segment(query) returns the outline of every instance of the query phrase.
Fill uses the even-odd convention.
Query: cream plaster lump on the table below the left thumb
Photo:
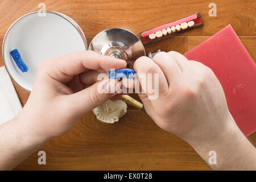
[[[119,121],[127,113],[127,105],[122,100],[108,100],[102,105],[93,109],[97,119],[105,123],[114,123]]]

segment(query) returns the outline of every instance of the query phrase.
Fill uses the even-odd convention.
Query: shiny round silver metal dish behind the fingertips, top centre
[[[131,69],[136,59],[146,55],[141,40],[133,32],[123,28],[110,28],[100,32],[90,42],[88,49],[101,55],[123,59],[127,62],[127,68]]]

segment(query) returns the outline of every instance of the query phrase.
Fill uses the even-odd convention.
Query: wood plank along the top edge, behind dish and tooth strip
[[[31,11],[39,10],[40,0],[2,0],[0,2],[1,30],[5,35],[7,28],[17,18]],[[209,1],[187,0],[168,1],[125,1],[125,0],[45,0],[46,10],[67,14],[80,24],[86,36],[112,27],[122,27],[139,35],[140,32],[154,28],[172,20],[201,12],[205,26],[185,32],[183,35],[213,35],[215,32],[232,24],[238,35],[256,35],[256,1],[229,0],[214,1],[217,16],[208,15]]]

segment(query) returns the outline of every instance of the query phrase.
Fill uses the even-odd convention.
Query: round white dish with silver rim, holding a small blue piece
[[[28,72],[23,73],[15,64],[10,51],[18,49]],[[73,51],[85,51],[87,42],[78,24],[67,15],[38,11],[17,19],[3,40],[3,63],[10,77],[23,89],[31,92],[38,66],[42,61]]]

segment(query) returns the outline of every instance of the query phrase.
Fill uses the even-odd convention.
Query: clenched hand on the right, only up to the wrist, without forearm
[[[139,97],[147,114],[163,130],[196,142],[210,140],[234,124],[222,86],[205,65],[171,51],[160,52],[153,59],[140,57],[134,70],[138,75],[159,74],[158,99],[148,100],[145,82],[141,86],[146,94]]]

